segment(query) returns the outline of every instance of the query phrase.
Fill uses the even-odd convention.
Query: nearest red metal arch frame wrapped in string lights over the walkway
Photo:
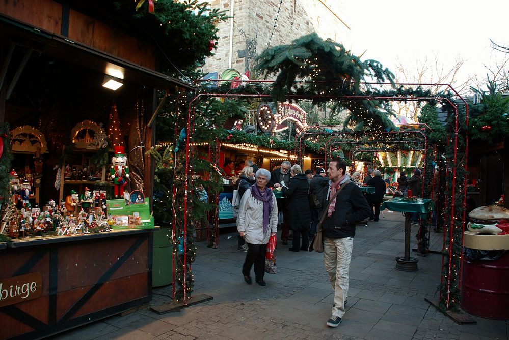
[[[200,81],[200,82],[239,82],[238,80],[230,80],[230,81],[225,81],[225,80],[203,80],[203,81]],[[273,83],[272,81],[244,81],[244,82],[240,82],[240,83]],[[298,83],[304,83],[303,81],[301,82],[298,82]],[[419,84],[419,83],[395,83],[395,84],[392,84],[392,83],[377,83],[377,82],[363,82],[363,84],[376,84],[376,85],[409,85],[409,86],[433,86],[433,87],[437,87],[437,86],[445,86],[446,88],[450,89],[464,104],[465,104],[465,121],[466,121],[466,126],[468,127],[468,104],[467,102],[463,99],[463,97],[460,96],[460,94],[449,84],[432,84],[432,83],[424,83],[424,84]],[[189,167],[189,156],[190,156],[190,145],[189,145],[189,141],[190,141],[190,135],[191,133],[193,132],[192,128],[191,128],[191,120],[192,120],[192,117],[194,117],[194,109],[192,109],[194,107],[194,102],[196,100],[198,100],[199,98],[202,98],[202,97],[219,97],[219,98],[225,98],[225,97],[237,97],[237,98],[272,98],[272,96],[270,96],[269,94],[254,94],[254,95],[250,95],[250,94],[229,94],[229,93],[226,93],[226,94],[217,94],[217,93],[201,93],[201,94],[198,94],[196,95],[191,101],[190,101],[190,104],[189,104],[189,109],[187,110],[187,128],[186,128],[186,132],[187,132],[187,137],[186,137],[186,150],[185,150],[185,153],[186,153],[186,161],[185,161],[185,184],[184,184],[184,223],[183,223],[183,231],[184,231],[184,278],[185,278],[185,254],[186,254],[186,246],[187,246],[187,234],[186,234],[186,229],[187,229],[187,213],[188,213],[188,206],[187,206],[187,201],[188,201],[188,194],[189,194],[189,187],[190,185],[192,184],[192,177],[190,176],[191,174],[191,169]],[[458,163],[458,151],[457,151],[457,147],[458,147],[458,134],[459,134],[459,114],[458,114],[458,106],[456,104],[454,104],[453,102],[451,102],[448,98],[444,98],[444,97],[396,97],[396,96],[392,96],[392,97],[386,97],[386,96],[374,96],[374,97],[371,97],[371,96],[325,96],[325,95],[310,95],[310,96],[303,96],[303,95],[288,95],[287,98],[289,99],[313,99],[313,98],[329,98],[329,99],[335,99],[335,100],[341,100],[341,99],[357,99],[357,100],[384,100],[384,101],[431,101],[431,100],[434,100],[434,101],[443,101],[443,102],[447,102],[451,105],[451,107],[453,108],[454,110],[454,127],[453,127],[453,136],[451,138],[451,134],[448,134],[447,135],[447,146],[450,146],[451,143],[454,144],[454,147],[453,147],[453,155],[452,155],[452,188],[451,188],[451,197],[452,199],[454,200],[455,196],[456,196],[456,168],[457,168],[457,165],[458,164],[461,164],[461,163],[464,163],[464,168],[465,170],[467,170],[467,160],[468,160],[468,136],[466,136],[465,138],[465,146],[466,146],[466,149],[465,149],[465,157],[463,160],[460,161],[460,163]],[[304,130],[304,129],[303,129]],[[307,130],[307,129],[306,129]],[[298,134],[297,134],[298,135]],[[296,147],[297,147],[297,135],[296,135]],[[465,176],[465,178],[463,179],[463,189],[462,189],[462,192],[463,192],[463,206],[465,206],[465,203],[466,203],[466,180],[467,180],[467,176]],[[452,271],[452,263],[451,263],[451,260],[452,260],[452,244],[454,242],[454,234],[453,234],[453,230],[454,230],[454,220],[456,219],[456,215],[455,215],[455,210],[454,210],[454,201],[452,202],[451,204],[451,214],[450,214],[450,242],[449,242],[449,246],[448,246],[448,256],[449,256],[449,267],[448,267],[448,275],[447,275],[447,296],[445,297],[445,305],[446,305],[446,308],[449,308],[450,306],[450,286],[451,286],[451,271]],[[465,211],[463,211],[463,215],[460,217],[461,218],[461,221],[462,221],[462,230],[464,230],[465,228]],[[446,228],[444,228],[444,240],[443,240],[443,243],[444,243],[444,248],[445,248],[445,240],[446,240]],[[461,236],[461,243],[463,244],[463,235]],[[462,257],[463,257],[463,254],[460,254],[460,268],[459,268],[459,284],[458,284],[458,288],[461,289],[461,267],[462,267]],[[442,259],[442,272],[443,272],[443,259]],[[441,274],[441,284],[443,283],[444,281],[444,275]],[[185,287],[185,280],[183,282],[183,285],[184,285],[184,305],[187,304],[187,300],[186,300],[186,287]],[[440,293],[440,300],[442,300],[442,293]]]

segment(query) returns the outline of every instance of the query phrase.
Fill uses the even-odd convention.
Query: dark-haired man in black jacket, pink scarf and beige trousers
[[[355,236],[355,224],[371,215],[371,209],[356,184],[345,175],[346,164],[334,159],[327,170],[329,187],[324,197],[322,223],[324,262],[334,289],[332,316],[327,325],[337,327],[345,313],[348,297],[350,260]],[[336,192],[341,190],[336,196]],[[329,201],[332,200],[329,204]]]

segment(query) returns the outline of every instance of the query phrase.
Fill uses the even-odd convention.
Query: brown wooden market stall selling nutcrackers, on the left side
[[[14,173],[31,175],[26,200],[45,212],[72,191],[111,193],[110,159],[121,145],[130,170],[125,190],[138,190],[149,209],[153,161],[145,149],[154,139],[156,90],[192,87],[157,71],[154,44],[72,4],[0,4],[0,126],[11,128]],[[102,87],[107,78],[121,89]],[[1,299],[0,339],[41,338],[148,303],[152,231],[1,243],[0,283],[30,294]]]

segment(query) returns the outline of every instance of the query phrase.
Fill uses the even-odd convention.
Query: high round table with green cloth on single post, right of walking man
[[[403,197],[395,197],[392,200],[385,201],[380,206],[380,210],[389,209],[392,211],[407,212],[405,214],[405,256],[396,257],[396,269],[403,271],[417,270],[417,262],[419,260],[410,257],[410,214],[408,212],[417,212],[426,214],[434,209],[431,199],[417,198],[408,199]]]

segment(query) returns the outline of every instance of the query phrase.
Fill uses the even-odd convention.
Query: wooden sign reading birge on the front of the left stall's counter
[[[37,299],[41,293],[41,273],[0,279],[0,307]]]

